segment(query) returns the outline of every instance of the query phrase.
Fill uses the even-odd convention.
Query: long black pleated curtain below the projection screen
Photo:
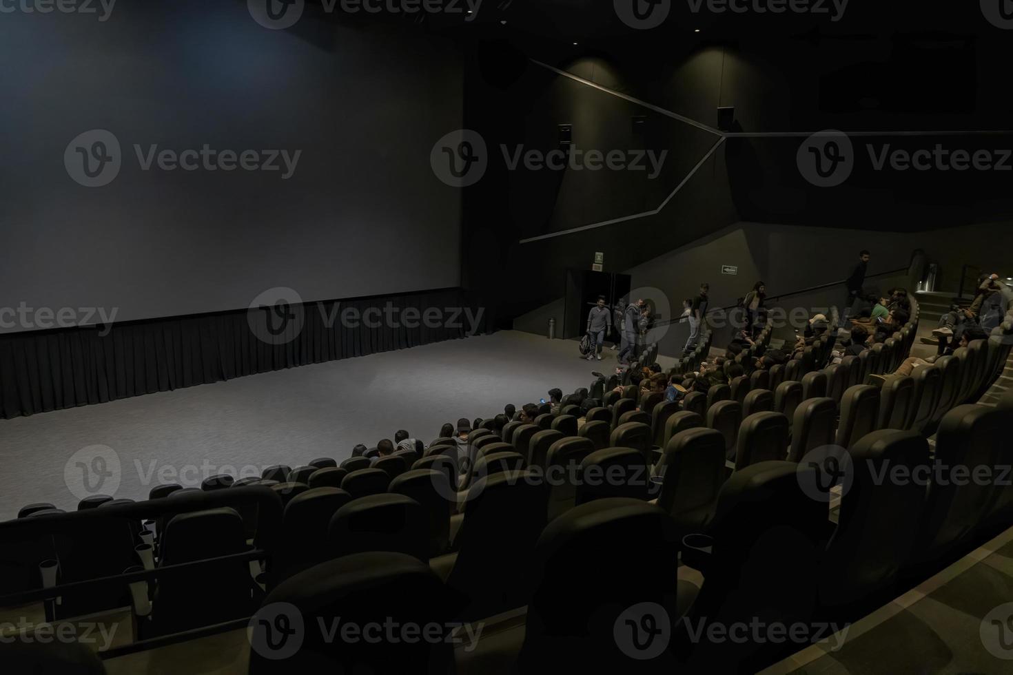
[[[396,311],[399,318],[395,321],[386,319],[389,314],[376,314],[376,310],[389,312],[388,307]],[[307,303],[301,308],[301,330],[293,323],[288,334],[264,339],[254,330],[266,335],[266,329],[257,319],[251,322],[247,310],[135,321],[111,328],[2,335],[0,418],[405,349],[484,331],[484,322],[470,325],[464,308],[472,317],[477,310],[465,303],[461,288]],[[342,321],[346,308],[367,320]],[[363,314],[371,308],[376,310]],[[408,308],[417,310],[417,318],[410,312],[403,314]],[[426,310],[431,311],[427,320]]]

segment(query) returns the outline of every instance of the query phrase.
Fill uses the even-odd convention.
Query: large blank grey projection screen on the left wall
[[[462,125],[451,45],[310,3],[284,30],[245,1],[86,4],[0,20],[0,332],[459,284],[430,164]]]

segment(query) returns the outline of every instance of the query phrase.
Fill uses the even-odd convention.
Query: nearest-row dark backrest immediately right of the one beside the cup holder
[[[898,468],[913,476],[917,467],[928,466],[929,445],[918,433],[879,429],[849,453],[851,482],[821,566],[820,604],[826,610],[889,586],[911,555],[925,501],[924,484],[879,478]]]

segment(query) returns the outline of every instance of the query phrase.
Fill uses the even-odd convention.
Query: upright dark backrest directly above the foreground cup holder
[[[672,436],[655,471],[661,477],[657,505],[679,518],[713,504],[724,483],[724,457],[719,431],[698,427]]]

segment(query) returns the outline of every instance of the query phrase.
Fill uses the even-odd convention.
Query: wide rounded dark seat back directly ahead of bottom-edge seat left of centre
[[[389,551],[428,560],[428,516],[410,497],[383,493],[353,499],[330,519],[332,558]]]

